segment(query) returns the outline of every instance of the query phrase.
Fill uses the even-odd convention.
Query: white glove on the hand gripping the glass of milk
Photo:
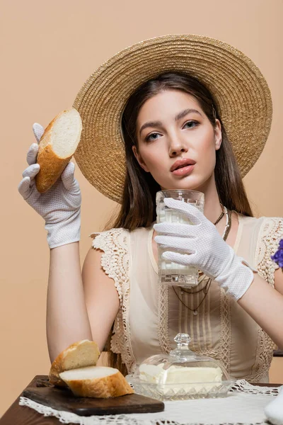
[[[156,232],[162,233],[154,238],[155,241],[162,249],[168,249],[162,254],[163,258],[197,267],[235,300],[241,298],[253,282],[256,270],[235,254],[214,224],[195,206],[173,198],[164,198],[164,203],[182,212],[193,225],[170,222],[154,225]]]

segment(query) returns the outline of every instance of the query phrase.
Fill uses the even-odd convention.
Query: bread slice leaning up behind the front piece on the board
[[[50,384],[66,387],[64,380],[59,377],[59,373],[65,370],[96,365],[99,356],[100,351],[94,341],[83,339],[71,344],[53,361],[49,373]]]

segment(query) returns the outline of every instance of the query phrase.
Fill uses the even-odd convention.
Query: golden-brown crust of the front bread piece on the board
[[[66,380],[66,382],[77,397],[110,398],[134,393],[119,370],[103,378]]]

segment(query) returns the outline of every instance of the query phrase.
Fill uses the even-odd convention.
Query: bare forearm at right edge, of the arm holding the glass
[[[280,269],[275,271],[275,288],[258,273],[254,273],[253,283],[238,300],[238,304],[283,350],[283,273]]]

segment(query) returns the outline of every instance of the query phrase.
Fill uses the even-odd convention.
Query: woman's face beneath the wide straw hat
[[[139,165],[162,189],[197,189],[214,175],[215,151],[221,145],[221,125],[212,127],[197,100],[183,91],[166,90],[144,103],[137,117]],[[195,162],[171,171],[178,159]]]

